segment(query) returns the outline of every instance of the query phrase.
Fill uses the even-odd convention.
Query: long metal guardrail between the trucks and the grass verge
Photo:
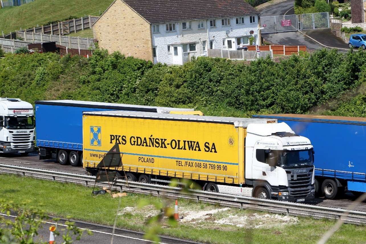
[[[78,180],[81,182],[76,182],[76,183],[85,182],[86,186],[89,184],[89,182],[93,182],[93,183],[95,182],[95,176],[68,173],[68,172],[63,172],[63,171],[36,169],[36,168],[9,165],[9,164],[0,163],[0,170],[10,170],[10,171],[19,172],[23,176],[25,176],[26,173],[37,174],[37,175],[42,175],[42,176],[49,176],[49,177],[52,177],[52,180],[56,180],[56,177],[67,179],[66,181]],[[10,172],[5,172],[5,173],[10,173]],[[123,187],[127,187],[127,183],[124,180],[116,180],[114,186],[116,186],[117,188],[120,188],[120,191],[122,191]],[[301,214],[301,212],[306,212],[306,213],[310,213],[310,214],[305,213],[305,215],[308,215],[308,216],[310,215],[312,217],[335,219],[332,216],[337,216],[339,218],[340,217],[343,217],[344,219],[347,218],[346,222],[350,222],[350,223],[352,223],[352,222],[366,223],[366,212],[364,212],[364,211],[347,210],[347,209],[343,209],[343,208],[334,208],[334,207],[324,207],[324,206],[317,206],[317,205],[310,205],[310,204],[303,204],[303,203],[283,202],[283,201],[279,201],[279,200],[261,199],[261,198],[256,198],[256,197],[239,196],[239,195],[232,195],[232,194],[226,194],[226,193],[208,192],[208,191],[200,191],[200,190],[193,190],[193,189],[189,189],[188,193],[186,193],[186,192],[182,192],[182,189],[179,187],[157,185],[157,184],[146,184],[146,183],[135,182],[135,181],[129,181],[128,186],[130,188],[141,188],[144,190],[155,191],[157,195],[164,193],[165,195],[172,194],[172,195],[168,195],[171,197],[187,198],[187,196],[190,196],[188,198],[190,198],[190,199],[195,198],[195,199],[197,199],[197,202],[199,200],[203,200],[204,198],[208,198],[208,199],[214,199],[214,200],[206,200],[206,202],[220,203],[220,204],[224,204],[224,205],[227,202],[236,203],[236,204],[240,204],[241,209],[243,209],[244,204],[246,204],[246,205],[249,204],[251,206],[257,205],[258,207],[255,207],[255,208],[259,208],[259,210],[265,210],[265,211],[270,210],[270,209],[268,209],[268,207],[282,208],[282,209],[286,210],[288,215],[289,214],[290,215],[304,215],[304,214]],[[219,202],[219,201],[224,201],[224,202]],[[300,213],[299,212],[290,212],[289,210],[300,211]],[[319,214],[323,214],[323,215],[319,215]],[[354,218],[354,220],[352,220],[350,218]]]

